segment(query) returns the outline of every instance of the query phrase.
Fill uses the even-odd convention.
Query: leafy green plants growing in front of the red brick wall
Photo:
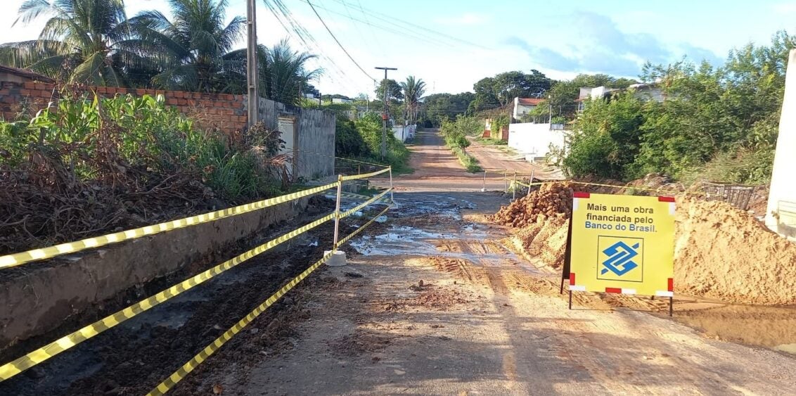
[[[200,131],[167,108],[162,96],[101,99],[66,92],[57,107],[41,110],[29,122],[0,122],[0,131],[0,167],[6,170],[47,152],[82,182],[146,183],[182,171],[199,174],[201,182],[229,201],[275,193],[246,147],[219,131]],[[275,154],[273,148],[271,152]]]

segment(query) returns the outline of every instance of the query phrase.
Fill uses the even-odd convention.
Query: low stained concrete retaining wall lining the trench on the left
[[[53,331],[120,292],[189,265],[205,269],[220,264],[232,257],[230,248],[242,238],[301,214],[308,199],[6,269],[0,278],[0,351]]]

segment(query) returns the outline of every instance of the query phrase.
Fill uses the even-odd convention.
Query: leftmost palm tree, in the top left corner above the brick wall
[[[0,63],[70,83],[123,85],[126,73],[154,65],[146,42],[131,35],[123,0],[27,0],[17,22],[51,18],[37,40],[0,45]]]

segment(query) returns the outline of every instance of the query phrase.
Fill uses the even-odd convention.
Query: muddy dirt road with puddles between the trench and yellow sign
[[[420,158],[444,161],[442,152]],[[792,355],[587,294],[568,310],[556,273],[511,253],[504,229],[479,223],[505,198],[441,191],[476,184],[447,172],[400,179],[391,222],[354,241],[361,254],[348,266],[323,269],[295,295],[306,319],[290,343],[200,372],[191,391],[796,394]]]

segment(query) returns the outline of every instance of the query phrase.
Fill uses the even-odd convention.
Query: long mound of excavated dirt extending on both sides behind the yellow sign
[[[654,179],[658,186],[677,188]],[[491,220],[517,228],[514,238],[525,253],[559,269],[572,191],[583,188],[589,190],[546,184],[503,206]],[[742,304],[796,304],[796,244],[725,202],[677,198],[674,269],[676,292]]]

